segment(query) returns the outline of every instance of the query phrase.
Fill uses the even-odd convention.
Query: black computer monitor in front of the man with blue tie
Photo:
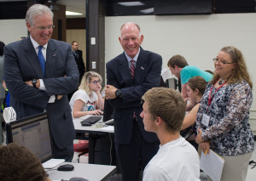
[[[47,113],[28,116],[6,124],[9,143],[26,147],[41,162],[52,158]]]

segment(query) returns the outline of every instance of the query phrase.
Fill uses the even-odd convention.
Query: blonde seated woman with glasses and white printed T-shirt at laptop
[[[103,114],[104,100],[101,94],[101,83],[102,76],[95,71],[88,71],[84,74],[79,90],[73,93],[69,102],[73,118]]]

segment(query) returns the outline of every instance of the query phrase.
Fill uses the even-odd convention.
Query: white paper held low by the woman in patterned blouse
[[[218,156],[218,154],[212,150],[210,150],[210,153],[207,155],[201,151],[200,168],[207,173],[213,181],[220,180],[223,167],[224,159],[221,156]]]

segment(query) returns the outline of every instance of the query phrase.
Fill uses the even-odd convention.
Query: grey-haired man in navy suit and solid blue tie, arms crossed
[[[67,93],[79,84],[70,44],[50,39],[53,13],[41,4],[26,12],[30,36],[4,47],[4,80],[17,119],[46,110],[53,156],[73,159],[75,131]]]

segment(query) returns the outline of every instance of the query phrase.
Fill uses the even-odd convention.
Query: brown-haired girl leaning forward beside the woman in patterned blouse
[[[187,93],[189,97],[189,101],[195,102],[196,105],[189,111],[188,115],[185,116],[183,120],[183,125],[181,130],[192,126],[196,121],[197,110],[200,105],[201,97],[204,94],[207,88],[207,82],[201,76],[194,76],[189,79],[187,84]]]

